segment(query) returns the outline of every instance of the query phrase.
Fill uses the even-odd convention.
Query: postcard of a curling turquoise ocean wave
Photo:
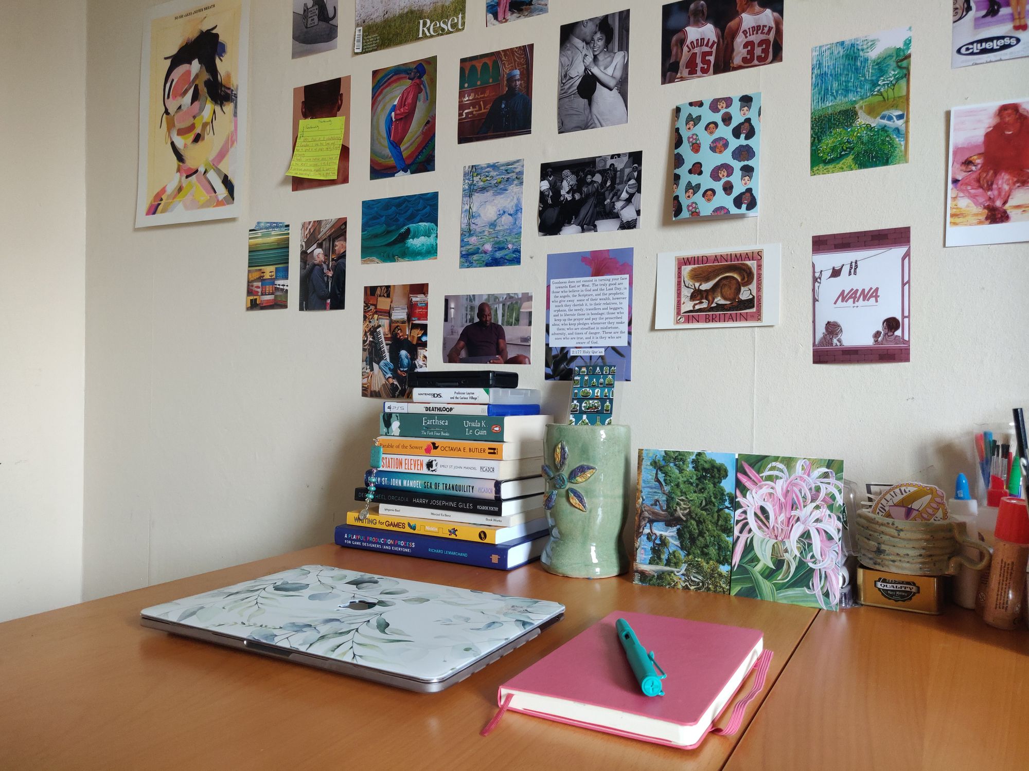
[[[439,193],[361,201],[361,264],[436,258]]]

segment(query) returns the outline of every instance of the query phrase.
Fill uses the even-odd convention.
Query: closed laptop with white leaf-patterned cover
[[[434,693],[561,620],[529,597],[309,564],[140,612],[152,629]]]

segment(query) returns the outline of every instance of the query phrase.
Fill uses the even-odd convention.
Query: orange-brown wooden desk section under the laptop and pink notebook
[[[553,599],[565,618],[439,694],[415,694],[139,625],[142,608],[301,564]],[[325,545],[0,624],[0,766],[11,769],[721,768],[741,734],[682,751],[509,713],[497,686],[613,610],[765,632],[775,683],[815,611]],[[749,680],[743,688],[749,687]],[[747,721],[764,694],[747,708]],[[728,715],[723,715],[723,721]],[[800,742],[800,740],[799,740]]]

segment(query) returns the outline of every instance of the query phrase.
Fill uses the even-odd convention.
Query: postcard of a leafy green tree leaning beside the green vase
[[[736,455],[641,449],[633,582],[729,594]]]

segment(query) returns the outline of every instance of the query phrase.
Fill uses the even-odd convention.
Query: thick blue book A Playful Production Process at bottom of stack
[[[341,524],[335,528],[335,543],[340,546],[470,564],[476,567],[492,567],[496,571],[510,571],[538,559],[548,536],[549,530],[543,530],[506,544],[480,544],[474,541],[452,541],[437,536],[390,533],[347,524]]]

